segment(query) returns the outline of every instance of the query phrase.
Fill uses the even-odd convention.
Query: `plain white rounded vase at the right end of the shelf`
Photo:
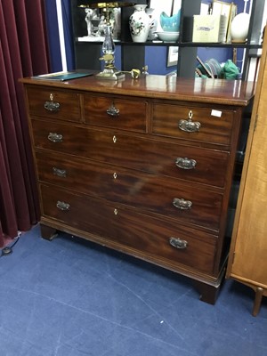
[[[245,43],[247,41],[249,19],[250,16],[246,12],[241,12],[234,17],[231,21],[231,42]]]

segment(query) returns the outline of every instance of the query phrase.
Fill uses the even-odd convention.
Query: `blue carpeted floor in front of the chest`
[[[263,356],[267,303],[227,280],[215,305],[190,280],[39,227],[0,258],[1,356]]]

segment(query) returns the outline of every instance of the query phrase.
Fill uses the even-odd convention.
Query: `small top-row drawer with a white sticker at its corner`
[[[153,134],[229,145],[232,111],[154,104]]]

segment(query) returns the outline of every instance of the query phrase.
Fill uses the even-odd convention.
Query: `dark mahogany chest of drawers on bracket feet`
[[[190,277],[214,303],[242,111],[241,81],[22,80],[41,231],[66,231]]]

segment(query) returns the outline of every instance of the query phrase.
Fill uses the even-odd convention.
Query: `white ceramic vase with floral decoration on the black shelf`
[[[145,12],[147,5],[134,5],[129,18],[129,27],[134,42],[146,42],[150,32],[150,16]]]

